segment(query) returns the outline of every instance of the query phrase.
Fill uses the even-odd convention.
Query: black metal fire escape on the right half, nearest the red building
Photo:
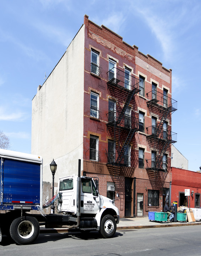
[[[147,94],[151,98],[147,102],[150,112],[160,114],[160,122],[155,126],[147,127],[147,140],[153,149],[153,158],[146,159],[146,169],[154,171],[166,171],[166,162],[163,161],[163,156],[170,146],[177,142],[177,134],[164,129],[164,123],[168,116],[177,110],[177,101],[155,90]]]

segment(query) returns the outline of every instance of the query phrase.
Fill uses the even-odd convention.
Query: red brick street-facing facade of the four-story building
[[[119,208],[120,217],[126,214],[127,196],[125,190],[125,177],[128,179],[130,186],[128,189],[130,204],[128,216],[147,216],[148,211],[161,211],[163,209],[164,195],[163,188],[169,188],[171,176],[169,175],[171,165],[171,147],[166,150],[167,170],[154,171],[147,170],[148,161],[152,158],[151,152],[155,145],[152,140],[147,139],[149,133],[147,127],[152,126],[151,117],[157,118],[157,125],[163,118],[164,108],[148,107],[147,102],[151,100],[152,82],[157,85],[158,94],[163,95],[163,90],[167,90],[167,96],[171,98],[172,70],[167,70],[162,63],[150,55],[144,55],[138,51],[138,47],[130,46],[122,41],[122,37],[108,30],[104,26],[97,26],[84,17],[85,25],[85,45],[84,45],[84,131],[83,131],[83,170],[86,175],[99,177],[99,191],[107,196],[107,182],[115,182],[116,193],[120,198],[116,200],[116,206]],[[91,49],[99,54],[100,74],[91,73]],[[136,132],[130,142],[130,166],[108,165],[106,152],[108,150],[108,140],[114,140],[115,131],[107,126],[108,123],[108,100],[116,102],[116,108],[123,109],[127,91],[109,88],[108,82],[108,62],[112,59],[116,62],[116,68],[119,72],[124,72],[125,68],[130,70],[133,79],[139,82],[139,75],[145,78],[144,95],[137,93],[129,103],[132,116],[139,119],[139,111],[144,113],[144,132]],[[90,116],[90,94],[91,92],[98,95],[99,98],[99,116],[94,118]],[[163,96],[162,96],[163,97]],[[166,117],[168,130],[171,131],[171,114]],[[90,135],[98,138],[98,161],[90,160]],[[119,147],[123,146],[126,141],[128,132],[119,129]],[[138,167],[139,148],[144,150],[144,168]],[[157,145],[157,150],[162,151],[163,144]],[[157,206],[151,206],[148,202],[149,191],[157,191]],[[138,202],[138,196],[143,203]],[[128,200],[129,201],[129,200]],[[140,207],[140,213],[137,209]]]

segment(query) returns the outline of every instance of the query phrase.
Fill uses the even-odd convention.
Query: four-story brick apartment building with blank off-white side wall
[[[32,101],[32,153],[43,180],[82,173],[115,198],[120,216],[161,211],[169,198],[172,70],[105,26],[84,24]]]

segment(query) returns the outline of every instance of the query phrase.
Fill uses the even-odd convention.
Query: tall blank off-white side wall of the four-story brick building
[[[32,154],[43,157],[43,181],[77,174],[83,162],[84,25],[32,100]],[[82,167],[81,167],[82,168]]]

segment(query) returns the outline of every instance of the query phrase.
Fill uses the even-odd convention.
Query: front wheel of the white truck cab
[[[103,238],[111,238],[115,233],[117,229],[117,223],[115,221],[115,218],[107,214],[105,215],[100,224],[100,234]]]

